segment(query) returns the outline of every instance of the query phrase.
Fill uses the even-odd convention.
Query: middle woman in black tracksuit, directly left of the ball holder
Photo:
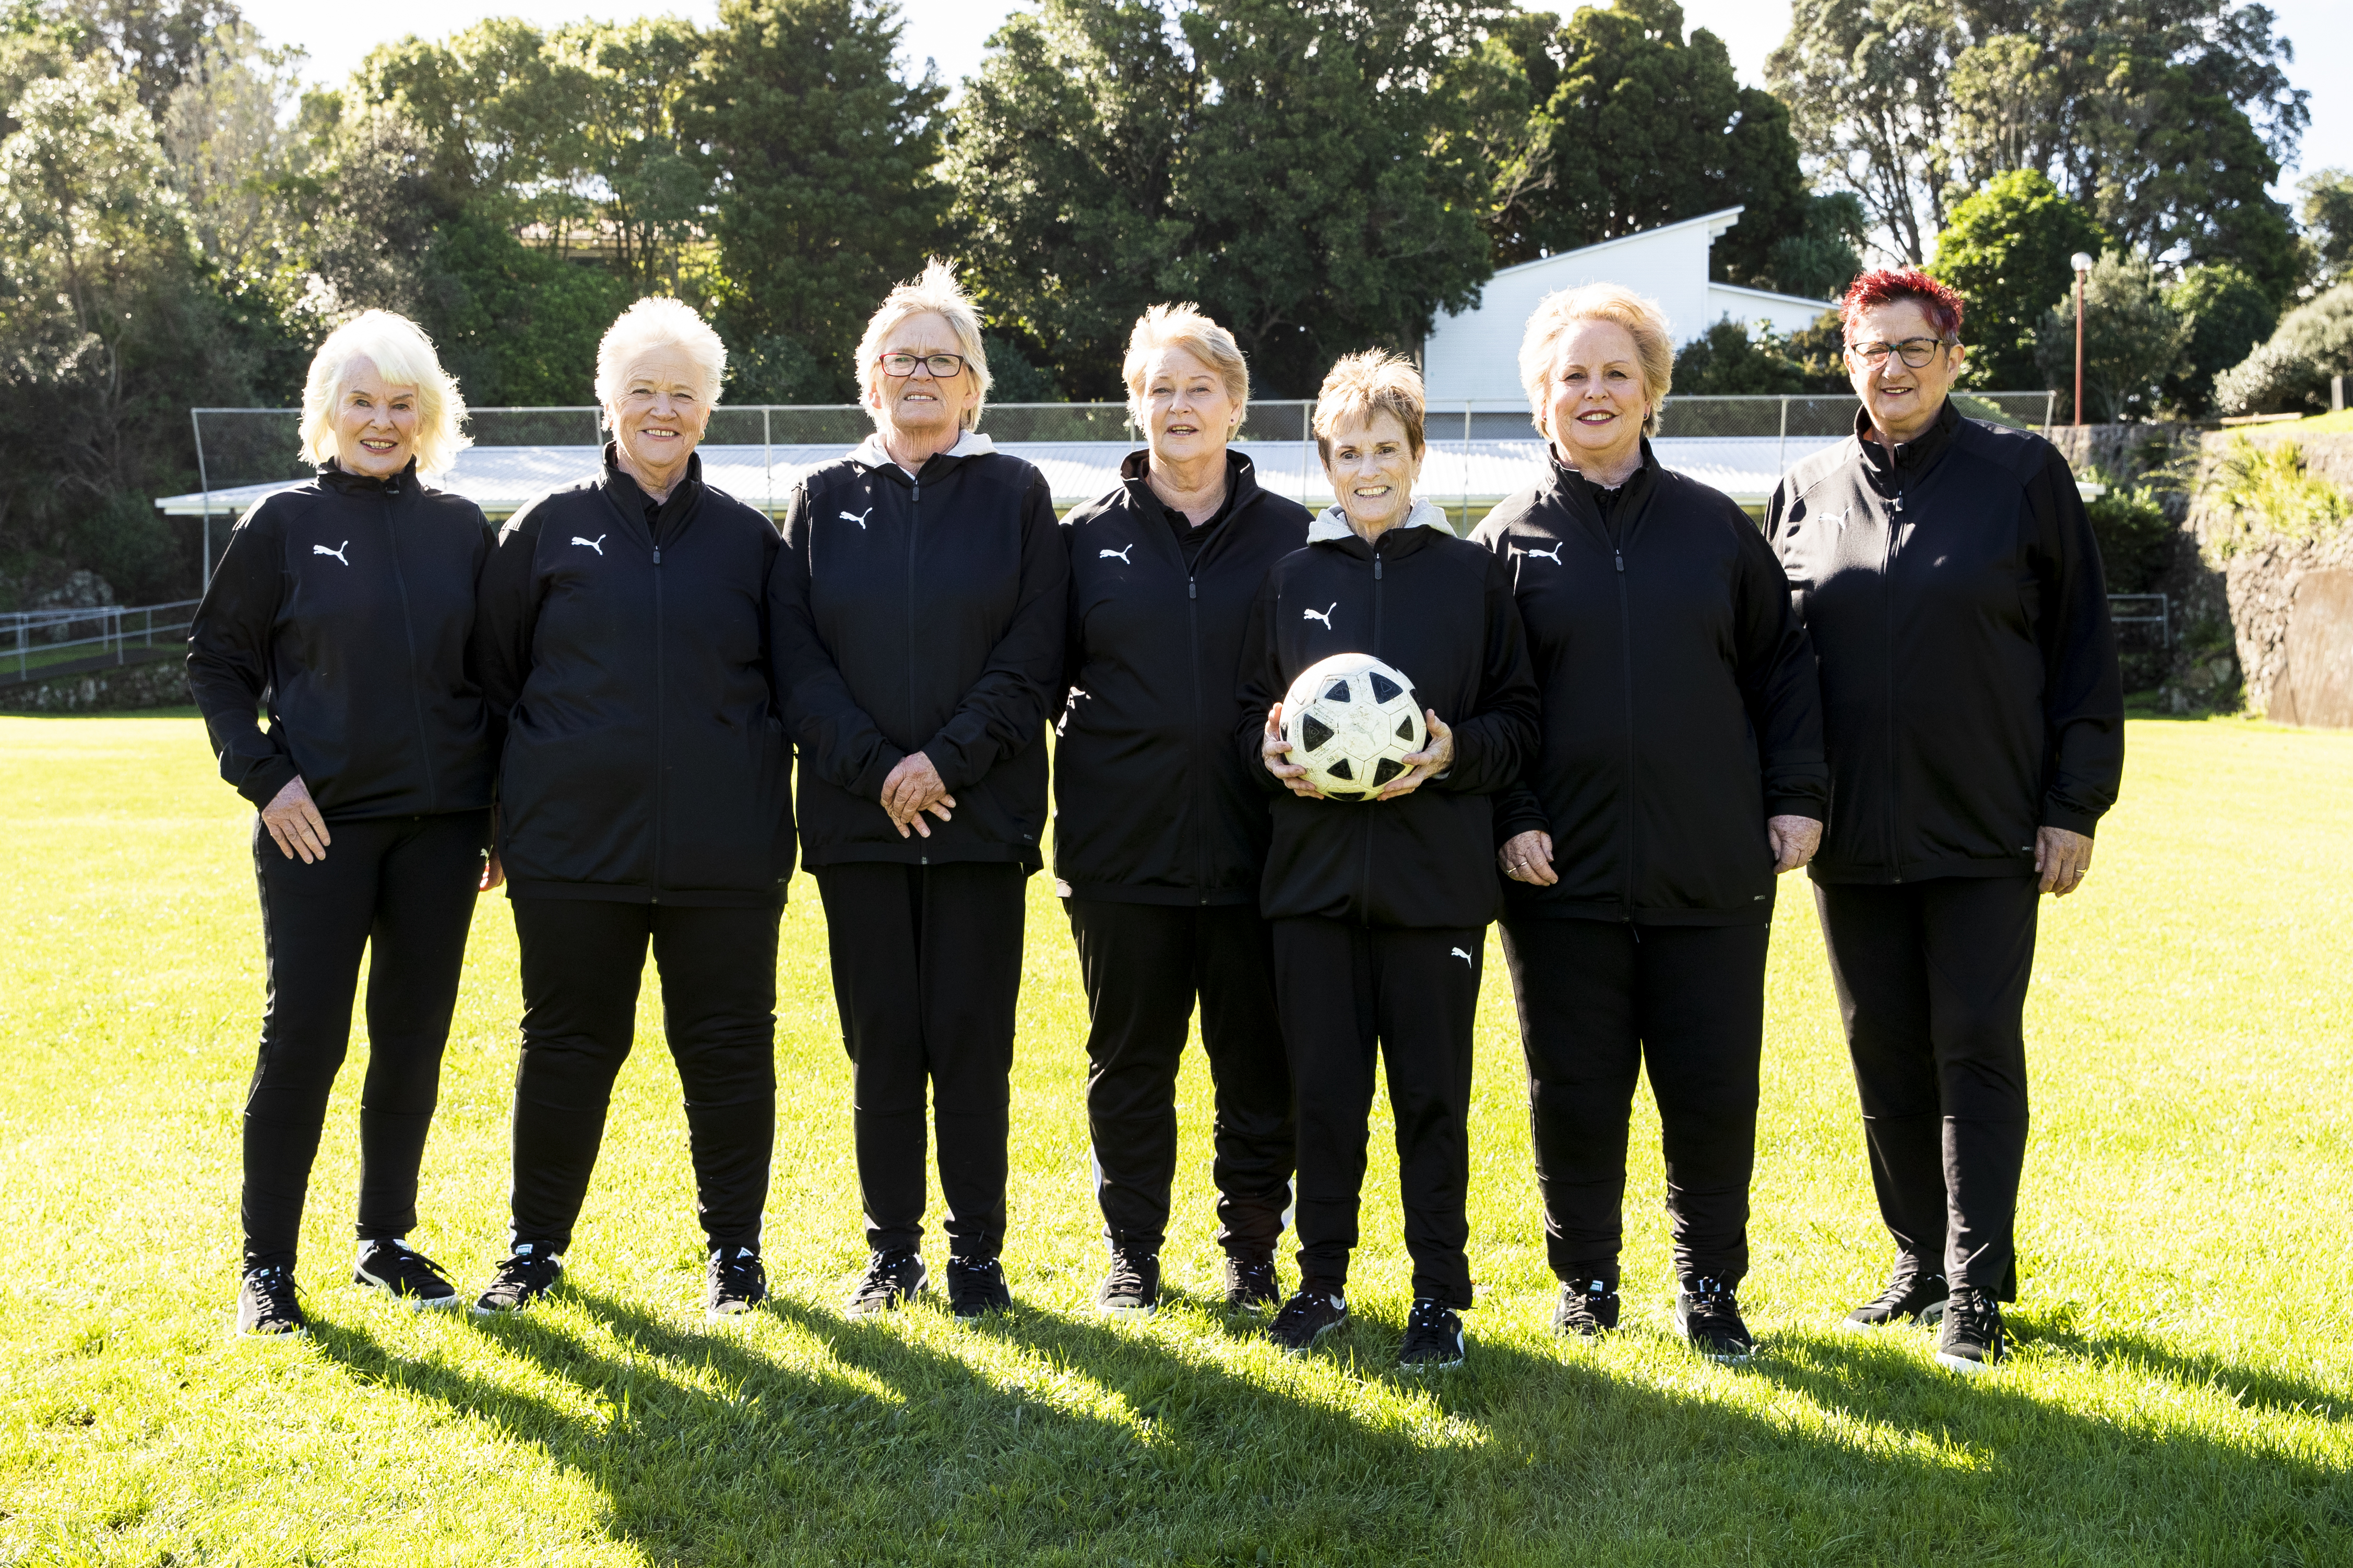
[[[1144,449],[1064,522],[1068,698],[1054,748],[1054,877],[1087,985],[1087,1126],[1111,1267],[1104,1312],[1160,1305],[1176,1065],[1200,1001],[1217,1081],[1226,1302],[1271,1307],[1292,1187],[1292,1084],[1259,919],[1266,799],[1228,745],[1242,628],[1308,510],[1228,442],[1249,404],[1233,334],[1153,306],[1127,339]]]

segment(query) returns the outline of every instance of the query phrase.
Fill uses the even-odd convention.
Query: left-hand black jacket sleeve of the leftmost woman
[[[221,778],[254,806],[271,804],[296,778],[294,757],[261,729],[271,639],[285,599],[280,552],[278,508],[264,498],[228,531],[228,548],[188,625],[188,691],[205,715]]]

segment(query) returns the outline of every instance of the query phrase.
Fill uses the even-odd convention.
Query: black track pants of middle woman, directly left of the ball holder
[[[1249,905],[1066,898],[1087,985],[1087,1128],[1113,1246],[1160,1251],[1176,1178],[1176,1063],[1200,997],[1217,1086],[1217,1241],[1271,1258],[1292,1199],[1292,1070],[1275,950]]]

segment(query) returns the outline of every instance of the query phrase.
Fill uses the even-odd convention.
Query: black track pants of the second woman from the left
[[[572,1244],[612,1081],[638,1032],[652,938],[661,1030],[687,1098],[694,1213],[711,1246],[760,1246],[776,1147],[779,905],[689,907],[515,898],[522,1060],[515,1065],[513,1241]]]

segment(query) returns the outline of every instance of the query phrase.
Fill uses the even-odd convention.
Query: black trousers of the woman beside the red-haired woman
[[[1565,1281],[1619,1284],[1626,1119],[1649,1070],[1682,1281],[1748,1274],[1769,926],[1506,919],[1527,1051],[1544,1251]]]

